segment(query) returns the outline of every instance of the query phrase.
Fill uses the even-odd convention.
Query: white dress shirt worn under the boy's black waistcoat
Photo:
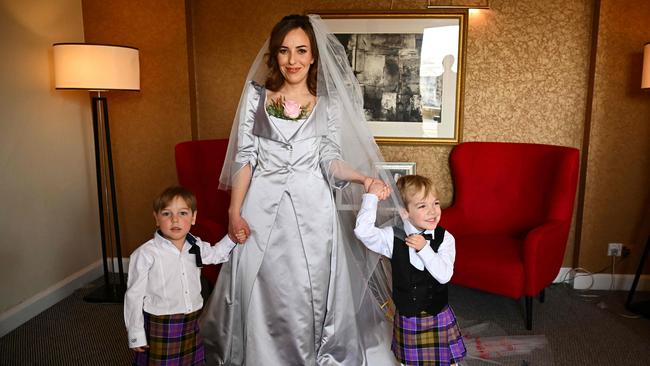
[[[368,249],[392,258],[395,240],[393,227],[378,228],[375,226],[378,201],[377,196],[374,194],[366,193],[363,195],[354,234]],[[410,221],[404,220],[404,231],[408,236],[419,234],[422,230],[418,230]],[[426,230],[425,233],[435,235],[434,230]],[[426,268],[438,282],[447,283],[454,274],[456,240],[453,235],[445,230],[445,237],[442,239],[442,244],[440,244],[437,253],[433,251],[429,244],[427,242],[420,251],[409,247],[409,261],[413,267],[421,271]]]

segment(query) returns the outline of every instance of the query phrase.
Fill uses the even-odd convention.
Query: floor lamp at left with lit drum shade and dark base
[[[125,46],[56,43],[53,45],[53,55],[56,89],[91,92],[104,283],[85,296],[84,300],[119,303],[124,299],[126,283],[113,178],[108,103],[101,93],[140,90],[139,51]],[[113,273],[117,262],[117,281],[109,273],[109,258]]]

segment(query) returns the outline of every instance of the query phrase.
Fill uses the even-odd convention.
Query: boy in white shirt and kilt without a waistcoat
[[[153,202],[158,230],[131,254],[124,322],[134,365],[204,363],[200,268],[228,261],[236,244],[226,235],[210,246],[190,234],[196,214],[192,192],[165,189]]]

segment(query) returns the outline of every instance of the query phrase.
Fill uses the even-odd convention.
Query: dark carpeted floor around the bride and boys
[[[129,365],[122,306],[86,303],[88,291],[78,290],[0,338],[0,365]],[[523,301],[452,286],[450,303],[461,330],[470,342],[484,347],[475,354],[483,360],[468,358],[466,364],[650,365],[650,320],[627,317],[627,294],[582,295],[563,285],[551,286],[545,303],[534,302],[533,331],[526,331]],[[497,349],[540,339],[546,345],[532,353],[497,355]]]

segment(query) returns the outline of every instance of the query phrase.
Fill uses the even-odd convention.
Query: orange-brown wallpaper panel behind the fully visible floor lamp
[[[124,256],[153,234],[151,202],[191,139],[185,2],[83,0],[86,42],[140,49],[140,92],[107,93]]]

